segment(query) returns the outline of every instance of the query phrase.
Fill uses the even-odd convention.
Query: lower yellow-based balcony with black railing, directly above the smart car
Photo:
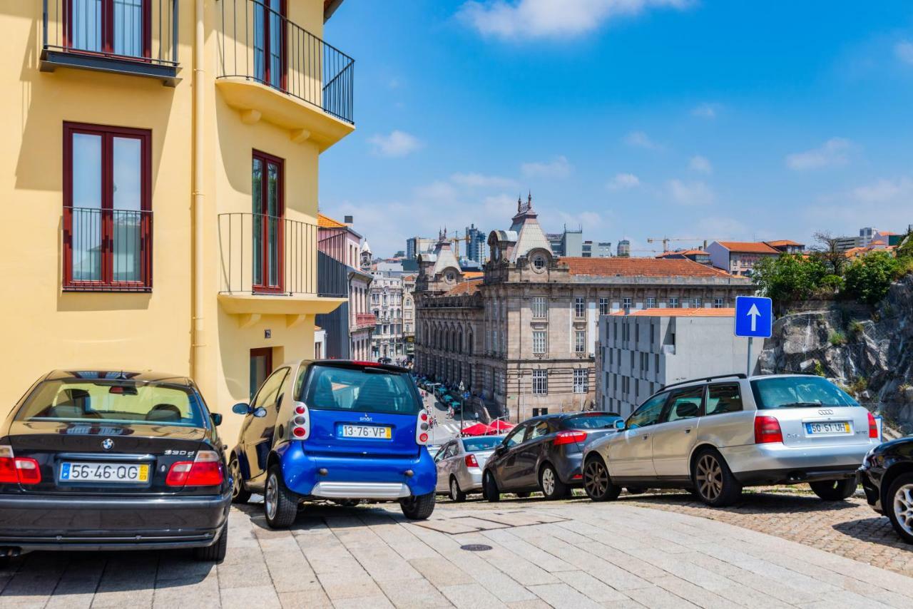
[[[250,325],[261,315],[329,313],[345,298],[317,295],[317,225],[274,215],[218,215],[219,301]]]

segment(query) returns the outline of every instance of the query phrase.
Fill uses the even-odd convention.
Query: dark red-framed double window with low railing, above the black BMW
[[[64,123],[64,289],[152,289],[152,131]]]

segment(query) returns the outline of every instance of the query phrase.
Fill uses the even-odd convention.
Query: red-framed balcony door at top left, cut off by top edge
[[[150,57],[151,0],[63,0],[66,44],[72,50]]]

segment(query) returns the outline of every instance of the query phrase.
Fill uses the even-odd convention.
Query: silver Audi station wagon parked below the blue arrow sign
[[[875,418],[820,376],[710,377],[667,385],[586,446],[583,488],[615,499],[623,487],[687,488],[711,506],[743,487],[808,483],[846,499],[879,443]]]

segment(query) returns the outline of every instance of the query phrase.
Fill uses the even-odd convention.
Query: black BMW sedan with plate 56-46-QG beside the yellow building
[[[220,422],[186,377],[42,376],[0,425],[0,556],[193,548],[221,561],[231,484]]]

